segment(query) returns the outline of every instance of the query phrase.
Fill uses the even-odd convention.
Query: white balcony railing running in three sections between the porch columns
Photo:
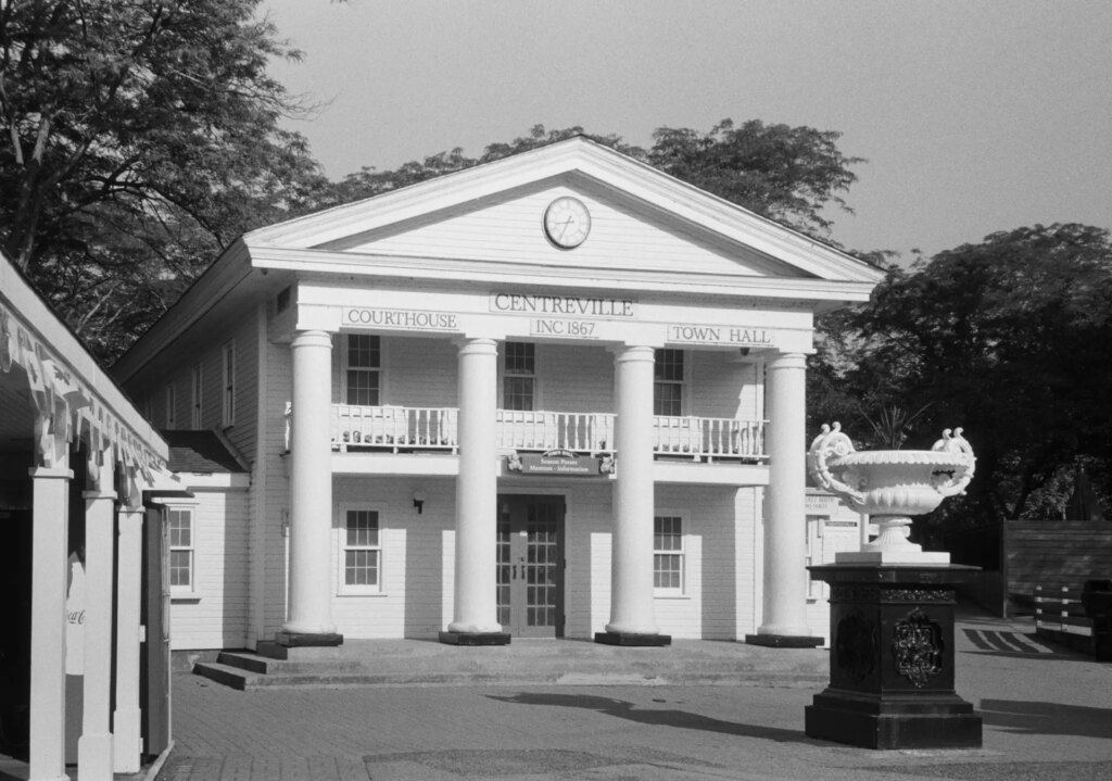
[[[458,448],[459,412],[455,407],[361,407],[332,405],[332,443],[341,452],[440,451]],[[613,453],[610,413],[497,411],[497,446],[502,449]],[[723,417],[653,418],[653,452],[662,457],[764,461],[765,422]]]

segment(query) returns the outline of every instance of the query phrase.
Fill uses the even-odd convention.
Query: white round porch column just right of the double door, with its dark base
[[[614,364],[614,534],[610,622],[595,642],[667,645],[653,617],[653,367],[652,347],[623,346]]]

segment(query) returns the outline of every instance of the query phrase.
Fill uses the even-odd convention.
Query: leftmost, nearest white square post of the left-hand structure
[[[31,741],[30,781],[66,775],[66,563],[68,463],[31,469]]]

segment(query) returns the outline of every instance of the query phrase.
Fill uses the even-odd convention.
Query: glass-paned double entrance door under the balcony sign
[[[498,621],[516,637],[564,635],[564,497],[498,495]]]

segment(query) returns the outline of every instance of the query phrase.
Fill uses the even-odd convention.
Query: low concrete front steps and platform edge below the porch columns
[[[280,658],[275,658],[275,656]],[[193,672],[241,691],[274,688],[489,685],[818,685],[828,656],[727,641],[667,647],[578,640],[515,640],[503,646],[424,640],[355,640],[338,647],[224,651]]]

